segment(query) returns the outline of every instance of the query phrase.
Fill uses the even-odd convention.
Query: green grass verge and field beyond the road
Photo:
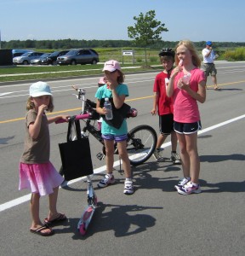
[[[160,65],[158,53],[159,50],[147,49],[146,58],[147,66],[145,65],[145,50],[141,48],[134,49],[133,56],[122,56],[122,50],[129,50],[131,48],[100,48],[95,49],[100,55],[100,62],[97,65],[77,65],[77,66],[13,66],[1,67],[0,66],[0,83],[9,81],[20,81],[26,79],[56,79],[76,76],[89,76],[89,75],[102,75],[103,62],[114,59],[121,62],[123,73],[132,73],[150,70],[162,70]],[[43,49],[36,49],[41,52],[48,52]],[[200,56],[202,56],[202,49],[197,49]],[[51,50],[50,50],[51,51]],[[238,52],[238,53],[237,53]],[[223,55],[219,56],[219,60],[229,59],[233,60],[234,55],[244,57],[244,48],[229,51],[226,58]],[[128,67],[128,68],[127,68]],[[135,68],[129,68],[135,67]]]

